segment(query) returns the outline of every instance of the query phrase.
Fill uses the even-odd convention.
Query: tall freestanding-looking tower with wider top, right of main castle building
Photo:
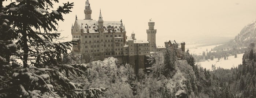
[[[156,29],[154,29],[154,26],[155,22],[153,22],[152,19],[149,19],[148,30],[146,30],[146,33],[150,43],[150,51],[154,51],[156,49]]]

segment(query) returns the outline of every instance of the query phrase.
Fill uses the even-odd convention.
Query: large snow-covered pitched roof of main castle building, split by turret
[[[86,32],[87,29],[87,25],[89,27],[89,33],[99,33],[98,30],[98,21],[96,20],[76,20],[78,25],[80,26],[79,28],[84,29],[84,33]],[[108,32],[108,27],[110,27],[110,32],[112,31],[112,28],[114,28],[115,32],[120,32],[120,27],[121,26],[121,22],[119,21],[104,21],[103,22],[103,28],[104,28],[104,32],[107,33]]]

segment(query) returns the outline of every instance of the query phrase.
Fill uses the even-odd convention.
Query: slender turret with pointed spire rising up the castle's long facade
[[[104,28],[103,28],[103,19],[101,15],[101,10],[100,10],[100,16],[98,20],[98,32],[99,32],[99,41],[100,41],[100,60],[104,60]]]

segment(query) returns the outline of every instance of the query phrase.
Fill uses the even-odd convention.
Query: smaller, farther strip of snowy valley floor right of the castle
[[[221,44],[220,44],[221,45]],[[211,46],[203,46],[203,47],[198,47],[198,48],[186,48],[189,49],[189,53],[190,54],[197,54],[197,55],[202,55],[203,51],[206,52],[206,49],[209,51],[211,51],[211,49],[213,49],[215,46],[219,46],[219,45],[211,45]],[[214,52],[214,51],[211,51]]]

